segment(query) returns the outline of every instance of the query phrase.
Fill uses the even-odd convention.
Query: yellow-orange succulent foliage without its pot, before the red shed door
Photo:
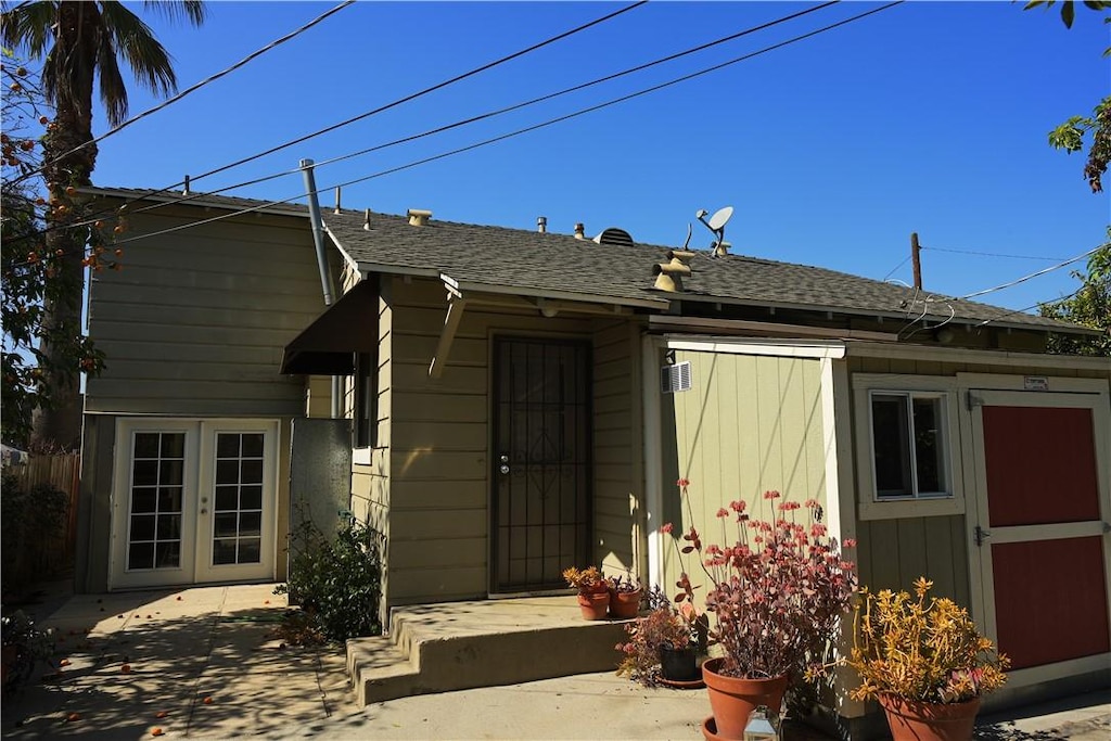
[[[964,702],[1007,681],[1005,655],[980,635],[968,610],[927,594],[933,582],[914,582],[914,597],[889,589],[861,590],[855,641],[847,663],[860,674],[854,700],[893,694],[922,702]]]

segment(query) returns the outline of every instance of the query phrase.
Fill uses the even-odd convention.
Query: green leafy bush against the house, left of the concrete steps
[[[274,594],[289,594],[328,640],[381,634],[380,539],[354,518],[328,538],[303,517],[291,537],[289,581],[274,588]]]

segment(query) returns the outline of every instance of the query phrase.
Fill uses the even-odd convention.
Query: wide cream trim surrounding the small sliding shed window
[[[855,417],[858,508],[861,520],[963,514],[964,488],[960,473],[960,393],[957,379],[937,375],[855,373],[852,377]],[[918,492],[909,497],[879,497],[875,489],[875,454],[872,431],[872,397],[905,394],[909,399],[941,399],[943,477],[948,491]],[[911,419],[913,419],[911,417]],[[911,441],[913,445],[913,441]],[[911,451],[912,477],[917,489],[917,461]]]

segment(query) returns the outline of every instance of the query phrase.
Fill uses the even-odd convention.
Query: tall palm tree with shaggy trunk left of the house
[[[63,298],[48,301],[40,347],[44,395],[50,403],[39,410],[32,442],[74,448],[81,437],[78,403],[80,368],[73,357],[74,338],[81,336],[81,294],[88,232],[59,228],[70,209],[67,192],[92,184],[97,146],[92,136],[92,92],[99,81],[101,103],[109,126],[128,116],[128,91],[120,60],[140,84],[158,94],[177,90],[170,56],[142,20],[121,2],[108,0],[40,0],[21,2],[0,13],[0,37],[12,49],[42,62],[42,86],[56,110],[43,138],[43,178],[49,191],[44,254],[61,256],[57,279]],[[171,20],[184,18],[193,26],[204,20],[200,0],[147,1],[144,8]]]

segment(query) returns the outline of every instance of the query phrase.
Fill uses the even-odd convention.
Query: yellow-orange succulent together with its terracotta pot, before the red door
[[[861,590],[855,637],[847,663],[860,674],[850,697],[879,700],[895,741],[972,738],[980,698],[1007,681],[1009,665],[983,638],[968,610],[929,597],[933,582],[914,582],[914,595]]]

